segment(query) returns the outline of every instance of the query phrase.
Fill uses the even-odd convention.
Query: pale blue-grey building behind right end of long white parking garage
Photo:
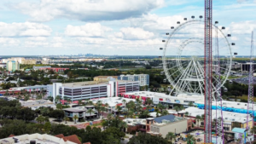
[[[148,74],[120,75],[119,80],[139,81],[140,86],[149,85]]]

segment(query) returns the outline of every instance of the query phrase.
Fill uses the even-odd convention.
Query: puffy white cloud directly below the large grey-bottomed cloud
[[[111,28],[102,26],[100,23],[87,23],[84,26],[68,25],[65,34],[71,37],[103,37],[104,32],[111,30]]]

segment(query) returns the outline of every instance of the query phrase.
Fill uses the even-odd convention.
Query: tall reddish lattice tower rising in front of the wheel
[[[212,143],[212,0],[205,0],[205,143]]]

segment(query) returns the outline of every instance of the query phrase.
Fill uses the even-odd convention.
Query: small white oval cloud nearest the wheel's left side
[[[116,33],[116,36],[131,40],[149,39],[154,37],[154,33],[144,31],[142,28],[126,27],[121,28],[120,32]]]

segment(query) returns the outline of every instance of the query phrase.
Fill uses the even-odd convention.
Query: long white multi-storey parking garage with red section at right
[[[125,92],[134,92],[139,90],[138,82],[111,80],[109,82],[79,82],[79,83],[53,83],[48,86],[49,96],[55,97],[61,95],[62,98],[67,97],[71,101],[79,101],[84,99],[113,97]],[[52,90],[52,91],[50,91]]]

